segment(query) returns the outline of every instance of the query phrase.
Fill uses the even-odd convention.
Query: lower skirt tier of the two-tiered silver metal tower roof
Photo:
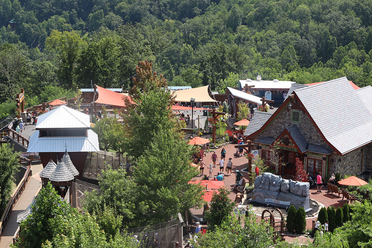
[[[98,136],[88,129],[87,137],[39,137],[39,130],[31,135],[27,152],[69,152],[99,151]]]

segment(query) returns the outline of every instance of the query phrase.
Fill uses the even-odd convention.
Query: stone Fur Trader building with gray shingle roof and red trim
[[[245,133],[267,165],[276,160],[279,174],[294,175],[298,157],[310,175],[372,171],[371,86],[355,90],[343,77],[289,93],[264,124],[253,116],[256,126]],[[275,143],[279,158],[270,151]]]

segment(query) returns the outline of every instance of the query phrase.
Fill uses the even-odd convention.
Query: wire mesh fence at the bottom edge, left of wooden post
[[[180,235],[178,226],[176,218],[151,226],[120,229],[120,233],[131,236],[134,242],[140,243],[141,248],[174,248]]]

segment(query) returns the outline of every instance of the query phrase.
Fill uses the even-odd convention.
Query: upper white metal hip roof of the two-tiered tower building
[[[89,115],[62,105],[38,116],[35,129],[44,128],[90,128]]]

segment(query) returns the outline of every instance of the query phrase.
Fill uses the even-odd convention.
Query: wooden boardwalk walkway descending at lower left
[[[26,185],[25,191],[23,191],[19,200],[15,204],[12,213],[10,214],[9,221],[4,229],[4,234],[1,237],[0,248],[10,247],[13,244],[13,236],[17,231],[19,224],[17,223],[17,215],[28,209],[30,204],[35,199],[35,195],[41,187],[41,181],[34,177],[30,177]]]

